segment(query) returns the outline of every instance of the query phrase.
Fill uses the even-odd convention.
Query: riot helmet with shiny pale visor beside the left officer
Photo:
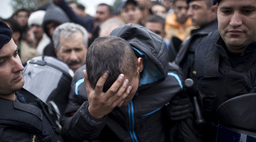
[[[60,116],[68,102],[73,75],[64,62],[50,56],[38,56],[27,61],[23,71],[23,88]]]

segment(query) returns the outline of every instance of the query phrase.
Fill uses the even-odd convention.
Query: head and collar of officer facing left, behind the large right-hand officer
[[[211,32],[218,29],[217,5],[212,5],[211,0],[187,0],[189,4],[188,15],[193,26],[199,26],[192,30],[197,32]]]

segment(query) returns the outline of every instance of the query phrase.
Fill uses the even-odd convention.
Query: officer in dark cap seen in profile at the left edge
[[[0,141],[63,141],[44,104],[22,89],[24,67],[11,35],[0,21]]]

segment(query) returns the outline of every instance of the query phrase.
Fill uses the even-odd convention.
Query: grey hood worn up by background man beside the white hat
[[[63,11],[58,6],[52,4],[47,7],[43,24],[42,24],[42,28],[44,29],[44,32],[51,38],[51,36],[49,35],[46,29],[46,24],[49,22],[56,22],[59,24],[63,24],[66,22],[70,22],[70,19],[68,18],[65,11]]]

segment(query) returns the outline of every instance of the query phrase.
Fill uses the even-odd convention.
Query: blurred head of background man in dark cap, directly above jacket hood
[[[124,23],[140,24],[141,12],[135,0],[125,0],[120,5],[120,16]]]

